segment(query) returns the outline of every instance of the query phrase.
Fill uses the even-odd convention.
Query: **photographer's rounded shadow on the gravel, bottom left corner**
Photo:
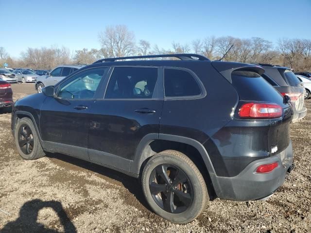
[[[2,229],[0,229],[0,233],[58,233],[57,230],[50,229],[37,222],[38,213],[43,208],[52,208],[56,212],[61,225],[64,227],[65,233],[77,232],[75,226],[67,216],[61,202],[55,200],[43,201],[40,199],[34,199],[25,202],[20,208],[18,218],[15,221],[8,222]]]

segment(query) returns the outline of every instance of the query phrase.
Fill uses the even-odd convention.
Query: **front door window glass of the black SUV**
[[[106,69],[89,69],[72,76],[60,85],[57,96],[62,99],[93,99]]]

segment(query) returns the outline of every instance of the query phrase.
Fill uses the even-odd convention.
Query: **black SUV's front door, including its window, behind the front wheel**
[[[82,159],[87,156],[89,113],[108,68],[90,68],[68,77],[41,107],[40,131],[46,148]]]

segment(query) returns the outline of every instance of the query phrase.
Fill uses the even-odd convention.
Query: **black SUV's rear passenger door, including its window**
[[[162,105],[162,68],[114,67],[104,99],[92,106],[90,160],[129,170],[140,140],[159,132]]]

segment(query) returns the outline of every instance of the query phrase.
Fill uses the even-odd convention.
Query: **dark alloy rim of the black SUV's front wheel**
[[[18,145],[24,154],[30,154],[34,149],[34,136],[28,125],[21,125],[18,129]]]

